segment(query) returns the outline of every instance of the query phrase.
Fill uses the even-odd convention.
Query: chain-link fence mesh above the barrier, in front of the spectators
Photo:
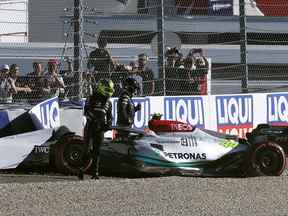
[[[17,22],[26,16],[27,22],[20,24],[29,40],[19,44],[11,43],[15,39],[2,40],[0,65],[16,63],[20,69],[17,93],[13,85],[1,81],[2,102],[11,97],[29,103],[53,95],[87,97],[100,78],[115,82],[114,96],[127,77],[139,82],[139,96],[286,91],[288,87],[284,0],[23,2],[27,8],[17,8],[16,1],[0,1],[0,10],[7,13],[0,13],[2,37],[20,32],[18,27],[10,30],[5,17]],[[241,4],[245,14],[239,16]],[[241,55],[243,45],[246,56]],[[40,72],[36,63],[42,65]],[[5,76],[1,79],[10,76],[13,84],[11,73]]]

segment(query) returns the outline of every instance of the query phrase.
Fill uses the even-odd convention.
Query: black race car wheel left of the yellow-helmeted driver
[[[55,146],[55,167],[57,171],[65,174],[77,174],[82,169],[86,172],[91,164],[92,158],[83,161],[87,152],[85,142],[77,135],[63,136]]]

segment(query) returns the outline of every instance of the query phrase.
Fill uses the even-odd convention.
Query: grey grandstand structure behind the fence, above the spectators
[[[244,2],[249,92],[286,91],[288,3]],[[73,0],[29,0],[28,40],[1,43],[0,63],[17,59],[24,65],[24,71],[29,72],[32,69],[29,61],[73,59],[73,3]],[[111,55],[120,63],[127,64],[135,61],[139,53],[147,53],[159,78],[160,3],[161,0],[88,0],[83,4],[85,61],[97,47],[97,38],[103,37]],[[175,46],[183,55],[193,48],[202,48],[212,62],[211,93],[241,93],[239,0],[163,0],[163,6],[164,46]]]

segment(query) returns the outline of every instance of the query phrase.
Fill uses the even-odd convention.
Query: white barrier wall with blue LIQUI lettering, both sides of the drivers
[[[83,134],[82,107],[61,108],[57,99],[44,101],[30,110],[39,123],[39,128],[66,125],[79,135]],[[260,123],[288,126],[288,92],[238,95],[167,96],[135,98],[141,103],[136,113],[135,128],[143,129],[153,113],[162,113],[163,119],[179,120],[200,128],[244,137]],[[113,125],[117,121],[117,99],[112,98]],[[25,109],[0,110],[0,128],[4,127]],[[34,119],[34,120],[35,120]],[[110,136],[109,133],[106,134]]]

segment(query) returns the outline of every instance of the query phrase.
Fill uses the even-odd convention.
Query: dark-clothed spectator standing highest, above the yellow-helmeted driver
[[[100,72],[111,72],[114,70],[114,63],[109,51],[106,49],[107,40],[99,37],[97,40],[98,48],[89,54],[87,68]]]

